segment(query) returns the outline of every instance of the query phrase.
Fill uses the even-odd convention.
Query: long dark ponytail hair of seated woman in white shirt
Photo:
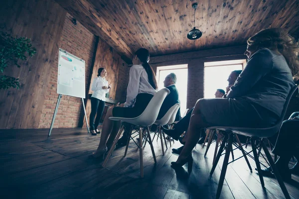
[[[136,51],[135,55],[142,62],[142,66],[145,68],[148,74],[149,84],[152,86],[152,88],[157,89],[157,81],[155,79],[154,72],[149,65],[149,51],[145,48],[140,48]]]

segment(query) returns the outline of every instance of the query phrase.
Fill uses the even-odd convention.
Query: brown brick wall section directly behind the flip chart
[[[80,22],[77,25],[71,22],[73,17],[66,15],[62,35],[58,43],[59,48],[85,60],[86,89],[90,75],[92,57],[95,48],[96,37],[87,30]],[[58,51],[55,62],[52,64],[50,82],[47,88],[47,95],[42,108],[42,115],[38,128],[49,128],[57,102],[57,72],[58,72]],[[81,113],[82,101],[80,98],[63,96],[56,115],[54,128],[77,127]]]

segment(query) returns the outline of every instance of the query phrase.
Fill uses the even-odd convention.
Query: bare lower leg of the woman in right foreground
[[[189,156],[192,149],[195,147],[200,138],[200,129],[203,127],[209,127],[208,124],[202,121],[201,114],[199,111],[199,102],[200,101],[198,100],[195,104],[192,116],[190,118],[189,127],[186,133],[186,144],[184,145],[184,148],[178,156],[176,163],[184,161]]]

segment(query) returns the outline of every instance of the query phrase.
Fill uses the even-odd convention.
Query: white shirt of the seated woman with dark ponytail
[[[142,65],[133,65],[130,69],[125,107],[133,107],[135,99],[140,93],[154,95],[156,90],[149,84],[149,77],[144,67]]]

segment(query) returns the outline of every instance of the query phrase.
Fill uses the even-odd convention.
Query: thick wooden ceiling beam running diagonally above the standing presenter
[[[98,9],[87,0],[56,0],[69,14],[75,17],[96,36],[120,53],[124,61],[130,62],[133,53],[131,48],[118,35],[109,23],[100,16]]]

